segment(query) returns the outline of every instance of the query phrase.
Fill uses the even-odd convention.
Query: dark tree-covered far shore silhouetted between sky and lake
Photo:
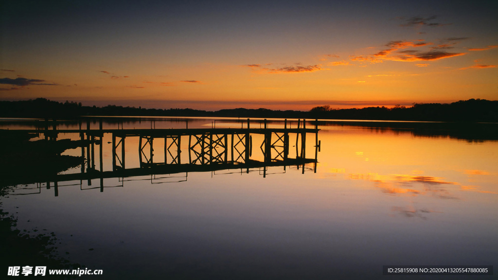
[[[145,109],[108,105],[82,106],[81,103],[60,103],[44,98],[27,101],[0,101],[0,118],[57,118],[80,117],[205,117],[205,118],[275,118],[338,121],[408,121],[408,122],[466,122],[498,123],[498,101],[470,99],[450,104],[414,104],[412,107],[366,107],[362,109],[331,109],[314,107],[310,111],[280,111],[269,109],[224,109],[203,111],[194,109]]]

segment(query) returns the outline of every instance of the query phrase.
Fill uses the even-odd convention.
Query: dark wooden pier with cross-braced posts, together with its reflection
[[[314,128],[306,128],[306,121],[303,120],[302,123],[298,121],[296,127],[290,128],[285,120],[283,128],[270,129],[264,120],[263,127],[251,128],[248,119],[247,123],[244,122],[241,126],[241,128],[211,129],[103,129],[101,120],[99,129],[90,129],[90,122],[87,122],[86,129],[83,129],[80,122],[79,129],[57,129],[56,125],[49,129],[46,125],[45,130],[24,131],[43,134],[47,140],[56,140],[58,134],[61,133],[77,133],[81,140],[87,140],[88,145],[81,147],[81,156],[87,159],[86,166],[82,164],[79,173],[51,175],[43,180],[47,182],[47,188],[50,188],[50,182],[53,182],[56,195],[58,194],[58,182],[73,180],[87,180],[88,185],[91,186],[93,179],[100,179],[100,189],[103,191],[105,178],[182,172],[188,174],[188,172],[224,169],[241,169],[241,172],[244,170],[249,173],[249,169],[253,168],[262,168],[263,177],[265,177],[269,166],[283,166],[285,170],[285,166],[297,165],[298,169],[304,173],[305,164],[309,163],[313,163],[313,170],[316,172],[317,154],[320,147],[319,129],[316,124]],[[306,134],[310,133],[315,135],[313,158],[306,157]],[[104,171],[103,166],[105,134],[111,134],[112,137],[112,170],[110,171]],[[252,143],[253,136],[256,135],[259,135],[257,139],[262,138],[260,145]],[[129,151],[128,154],[125,152],[126,139],[132,137],[138,138],[139,167],[137,168],[126,167],[125,158],[132,156]],[[295,138],[295,157],[289,157],[291,138]],[[158,139],[161,139],[159,144],[154,146]],[[96,168],[95,145],[99,146],[98,169]],[[259,147],[262,160],[256,160],[252,156],[253,146]],[[157,161],[157,156],[154,157],[154,153],[158,150],[164,153],[163,160]],[[184,152],[188,152],[187,163],[182,162],[182,159],[186,159],[186,156],[181,156]],[[261,159],[260,156],[259,159]]]

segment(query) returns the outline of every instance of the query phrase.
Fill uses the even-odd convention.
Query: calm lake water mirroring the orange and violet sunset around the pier
[[[212,122],[191,119],[189,128]],[[185,122],[123,124],[151,125]],[[105,178],[103,192],[99,179],[78,180],[60,182],[58,196],[46,183],[19,185],[1,198],[2,208],[15,213],[20,230],[54,232],[71,262],[104,271],[93,279],[394,279],[382,276],[383,265],[497,268],[497,141],[341,123],[319,129],[316,173],[309,163],[304,173],[302,166],[267,167],[264,177],[252,168]],[[261,140],[253,137],[255,159],[262,158]],[[112,170],[111,141],[104,135],[104,171]],[[164,161],[161,141],[154,142],[156,161]],[[314,158],[315,135],[307,141]],[[290,145],[295,157],[295,136]],[[138,138],[125,147],[126,168],[138,167]],[[95,152],[98,169],[98,146]],[[181,161],[188,162],[187,152]]]

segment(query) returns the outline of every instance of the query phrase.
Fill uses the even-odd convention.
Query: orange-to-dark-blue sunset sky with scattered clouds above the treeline
[[[0,5],[0,100],[307,111],[498,99],[496,0]]]

